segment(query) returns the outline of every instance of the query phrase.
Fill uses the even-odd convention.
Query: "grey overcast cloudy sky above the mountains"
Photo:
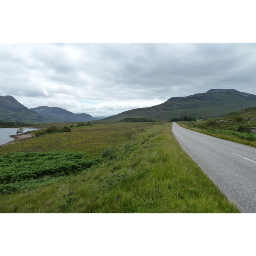
[[[212,88],[256,94],[256,44],[0,44],[0,95],[110,116]]]

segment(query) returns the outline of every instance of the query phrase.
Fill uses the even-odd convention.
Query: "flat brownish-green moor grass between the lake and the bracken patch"
[[[154,125],[159,125],[159,122],[155,122]],[[15,145],[0,147],[0,154],[68,150],[87,152],[89,157],[94,157],[101,154],[108,145],[120,145],[151,126],[152,123],[146,122],[93,122],[93,126],[73,127],[70,133],[44,134]],[[35,134],[38,131],[31,133]]]

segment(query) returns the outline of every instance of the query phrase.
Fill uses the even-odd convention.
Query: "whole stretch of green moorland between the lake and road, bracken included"
[[[0,147],[0,212],[239,212],[182,150],[172,123],[68,125]]]

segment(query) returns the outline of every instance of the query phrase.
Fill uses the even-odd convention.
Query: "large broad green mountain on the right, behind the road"
[[[120,120],[126,117],[145,117],[168,121],[180,116],[209,118],[256,106],[256,95],[234,89],[211,89],[186,97],[173,97],[149,108],[137,108],[109,116],[102,120]]]

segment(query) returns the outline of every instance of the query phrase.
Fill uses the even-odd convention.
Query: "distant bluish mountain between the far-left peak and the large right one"
[[[86,122],[99,120],[86,113],[75,114],[58,107],[41,106],[37,108],[30,108],[30,110],[35,111],[38,114],[44,114],[47,118],[55,120],[53,122]]]

